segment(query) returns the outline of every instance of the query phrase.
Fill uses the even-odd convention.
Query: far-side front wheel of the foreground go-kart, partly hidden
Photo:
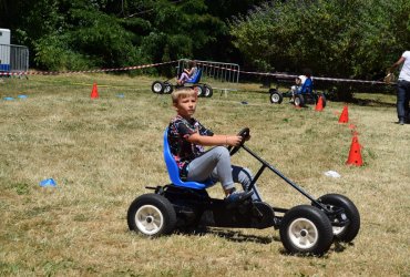
[[[346,217],[350,220],[347,226],[334,226],[334,236],[339,242],[349,243],[355,239],[360,229],[360,214],[355,204],[346,196],[340,194],[326,194],[318,202],[325,204],[329,209],[341,207],[345,209]],[[337,218],[334,219],[338,222]]]

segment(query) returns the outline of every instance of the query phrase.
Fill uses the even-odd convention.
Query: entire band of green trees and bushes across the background
[[[182,58],[376,80],[410,44],[408,0],[2,0],[31,66],[83,70]]]

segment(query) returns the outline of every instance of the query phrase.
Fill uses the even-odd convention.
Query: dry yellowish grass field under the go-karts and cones
[[[94,81],[100,99],[91,100]],[[127,229],[131,202],[168,183],[162,133],[174,111],[152,81],[75,74],[0,83],[1,276],[410,276],[410,125],[394,123],[394,95],[356,95],[373,101],[349,104],[349,124],[338,123],[344,103],[322,112],[271,105],[259,84],[199,99],[203,124],[232,134],[248,126],[247,145],[287,177],[316,197],[339,193],[357,205],[353,243],[299,257],[286,254],[274,228],[155,239]],[[361,167],[345,164],[350,124]],[[243,151],[233,162],[259,168]],[[45,178],[57,186],[41,187]],[[274,206],[309,203],[269,171],[258,185]],[[209,194],[223,197],[218,185]]]

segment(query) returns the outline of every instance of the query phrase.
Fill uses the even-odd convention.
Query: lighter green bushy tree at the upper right
[[[259,70],[372,79],[410,42],[406,0],[289,0],[230,22],[234,44]]]

